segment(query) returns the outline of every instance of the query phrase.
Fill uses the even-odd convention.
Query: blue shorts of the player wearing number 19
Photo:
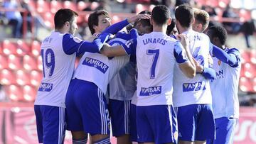
[[[66,121],[65,108],[35,105],[36,129],[39,143],[64,142]]]

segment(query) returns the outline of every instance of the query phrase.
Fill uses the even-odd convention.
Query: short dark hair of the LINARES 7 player
[[[158,5],[152,10],[151,18],[156,25],[163,25],[169,18],[171,18],[171,13],[167,6]]]

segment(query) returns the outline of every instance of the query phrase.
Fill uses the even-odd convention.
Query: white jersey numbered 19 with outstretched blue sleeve
[[[93,43],[80,40],[70,33],[52,32],[41,45],[43,79],[38,89],[35,105],[65,107],[65,95],[75,68],[75,56],[97,52],[108,35]]]

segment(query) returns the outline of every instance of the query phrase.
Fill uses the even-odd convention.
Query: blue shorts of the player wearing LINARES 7
[[[178,128],[173,106],[137,106],[136,117],[139,142],[176,143]]]

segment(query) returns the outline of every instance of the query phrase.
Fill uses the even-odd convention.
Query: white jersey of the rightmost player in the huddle
[[[226,48],[225,52],[230,51]],[[238,82],[240,77],[240,53],[235,50],[233,54],[238,57],[238,65],[231,67],[213,57],[213,69],[216,78],[210,82],[210,89],[213,95],[214,118],[239,117]],[[228,52],[231,53],[231,52]]]

